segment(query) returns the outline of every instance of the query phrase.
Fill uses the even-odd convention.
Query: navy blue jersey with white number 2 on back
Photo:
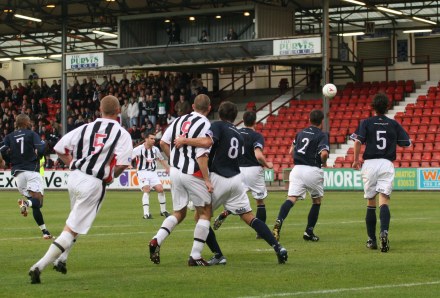
[[[316,126],[300,131],[294,141],[293,160],[295,165],[321,168],[321,152],[330,152],[328,136]]]

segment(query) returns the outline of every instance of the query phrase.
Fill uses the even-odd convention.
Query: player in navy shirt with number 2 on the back
[[[275,221],[273,234],[277,240],[280,238],[281,226],[289,214],[290,209],[297,200],[304,200],[306,192],[312,198],[306,230],[303,239],[318,241],[314,228],[318,221],[321,201],[324,197],[324,171],[321,167],[327,166],[330,151],[328,136],[322,132],[324,113],[320,110],[310,112],[310,126],[299,132],[291,147],[295,166],[289,176],[289,191],[287,200],[281,205],[280,212]]]

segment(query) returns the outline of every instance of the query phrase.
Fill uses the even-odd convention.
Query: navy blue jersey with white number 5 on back
[[[366,144],[364,160],[396,159],[396,146],[408,147],[411,140],[403,127],[386,116],[374,116],[361,121],[351,139]]]

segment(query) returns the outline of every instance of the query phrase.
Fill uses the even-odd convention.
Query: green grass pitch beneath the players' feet
[[[438,297],[440,292],[439,193],[395,192],[391,203],[389,253],[365,248],[365,201],[360,192],[327,192],[317,243],[302,240],[310,199],[290,211],[281,234],[289,260],[278,265],[272,249],[238,217],[217,232],[228,264],[188,267],[194,222],[189,213],[162,245],[161,264],[149,261],[147,243],[160,227],[142,219],[141,193],[109,191],[94,226],[81,236],[62,275],[46,268],[41,285],[31,285],[29,267],[50,242],[40,237],[31,214],[23,218],[17,192],[0,193],[1,297]],[[285,192],[267,199],[272,229]],[[167,193],[168,209],[171,209]],[[252,204],[254,202],[252,201]],[[43,213],[58,235],[69,211],[67,192],[47,191]],[[218,214],[219,211],[216,212]],[[211,256],[206,247],[204,256]]]

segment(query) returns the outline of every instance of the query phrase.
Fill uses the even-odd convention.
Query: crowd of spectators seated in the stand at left
[[[199,93],[207,89],[201,80],[187,73],[140,73],[130,78],[123,74],[75,79],[67,91],[66,132],[93,122],[99,113],[99,102],[105,95],[114,95],[121,104],[120,122],[136,144],[148,133],[160,139],[166,126],[175,117],[189,113]],[[49,86],[45,80],[29,78],[22,84],[0,88],[0,141],[14,130],[18,114],[29,115],[32,130],[48,144],[47,154],[61,137],[61,80]]]

